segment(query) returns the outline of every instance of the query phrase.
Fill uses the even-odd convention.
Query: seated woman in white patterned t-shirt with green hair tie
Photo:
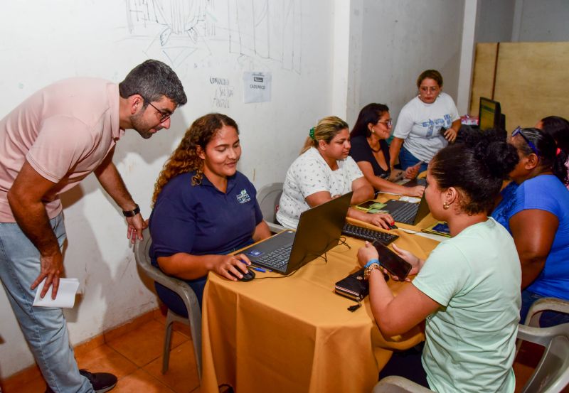
[[[294,160],[282,188],[277,220],[296,228],[304,210],[353,191],[352,204],[373,198],[373,187],[363,177],[350,152],[348,124],[338,117],[324,117],[309,131],[300,156]],[[367,214],[349,208],[348,217],[385,229],[395,222],[387,214]]]

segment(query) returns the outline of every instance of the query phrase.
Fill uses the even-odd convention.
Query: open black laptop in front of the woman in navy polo
[[[296,232],[285,230],[244,249],[252,264],[282,274],[299,269],[338,244],[352,193],[302,212]]]

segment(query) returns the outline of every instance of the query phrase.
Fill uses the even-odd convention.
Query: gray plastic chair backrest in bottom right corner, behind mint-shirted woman
[[[519,325],[518,338],[546,347],[522,393],[558,393],[569,383],[569,323],[551,328]]]

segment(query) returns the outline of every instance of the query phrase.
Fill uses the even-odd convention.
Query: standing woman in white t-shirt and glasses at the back
[[[425,70],[417,79],[419,95],[401,109],[389,155],[393,170],[399,157],[406,178],[427,170],[437,151],[457,139],[460,117],[452,97],[442,92],[442,75]],[[420,165],[419,165],[420,164]]]

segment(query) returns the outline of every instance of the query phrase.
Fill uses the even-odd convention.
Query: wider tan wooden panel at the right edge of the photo
[[[569,43],[500,43],[494,99],[506,128],[543,117],[569,119]]]

